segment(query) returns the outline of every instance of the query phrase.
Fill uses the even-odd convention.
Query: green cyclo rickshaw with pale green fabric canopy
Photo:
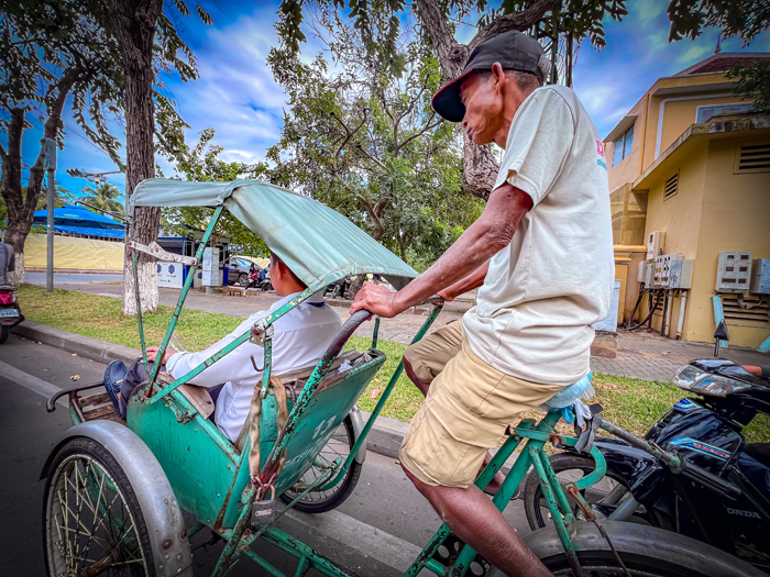
[[[195,257],[169,255],[158,245],[135,242],[135,207],[201,206],[213,209]],[[46,479],[44,546],[48,575],[193,575],[190,537],[204,528],[224,541],[213,572],[224,575],[240,557],[256,563],[256,575],[285,575],[252,545],[265,541],[298,559],[295,576],[310,570],[330,577],[352,572],[316,552],[276,526],[289,508],[308,512],[339,504],[352,490],[351,470],[360,469],[365,439],[398,380],[403,364],[382,392],[364,423],[355,403],[385,362],[377,349],[378,320],[367,351],[343,353],[353,332],[371,313],[358,311],[342,325],[314,367],[297,367],[290,375],[273,375],[273,323],[329,285],[350,275],[383,275],[398,287],[417,273],[366,235],[348,219],[301,195],[258,181],[183,182],[151,179],[134,191],[129,206],[133,274],[138,281],[138,252],[190,266],[202,257],[224,210],[239,219],[275,252],[307,285],[307,289],[256,322],[250,331],[213,354],[182,378],[160,371],[131,396],[122,422],[101,382],[73,387],[52,397],[47,410],[66,396],[74,426],[53,450],[42,477]],[[168,330],[157,354],[163,357],[193,282],[188,274]],[[415,336],[421,339],[441,311],[435,308]],[[146,345],[138,299],[143,358]],[[240,344],[261,344],[262,373],[251,412],[239,442],[231,443],[208,419],[213,403],[207,390],[188,381],[215,365]],[[258,367],[257,365],[262,365]],[[568,410],[569,409],[564,409]],[[527,545],[558,575],[746,576],[757,572],[726,553],[675,533],[610,520],[597,522],[583,495],[605,474],[602,454],[591,446],[601,426],[657,452],[666,463],[684,470],[683,459],[651,446],[612,423],[593,419],[580,439],[559,435],[556,424],[563,411],[548,412],[539,422],[525,420],[509,431],[476,485],[486,487],[496,471],[520,447],[493,502],[502,511],[530,467],[535,467],[554,528],[524,537]],[[345,452],[329,452],[343,431]],[[343,435],[344,436],[344,435]],[[594,458],[595,469],[575,481],[560,481],[544,452],[548,443],[579,444]],[[339,444],[339,443],[338,443]],[[329,456],[331,455],[331,456]],[[693,477],[696,478],[696,477]],[[336,496],[322,502],[314,496]],[[569,496],[569,497],[568,497]],[[277,498],[285,504],[276,508]],[[182,510],[197,522],[188,528]],[[502,575],[442,525],[404,574],[474,576]]]

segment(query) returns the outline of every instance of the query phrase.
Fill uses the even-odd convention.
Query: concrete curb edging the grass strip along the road
[[[113,360],[122,360],[127,365],[131,365],[141,356],[141,352],[135,348],[114,345],[99,339],[82,336],[32,321],[24,321],[18,324],[11,329],[11,332],[30,341],[40,341],[48,346],[62,348],[68,353],[76,353],[97,363],[109,364]],[[362,412],[364,420],[367,420],[371,413]],[[377,417],[366,437],[366,448],[381,455],[398,458],[398,450],[402,446],[408,426],[408,423],[403,423],[396,419]]]

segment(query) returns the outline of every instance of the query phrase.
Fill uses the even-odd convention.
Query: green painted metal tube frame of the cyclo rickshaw
[[[201,238],[201,244],[198,247],[198,251],[196,253],[196,257],[198,259],[202,258],[202,253],[206,244],[211,237],[211,234],[213,233],[213,229],[221,217],[223,207],[218,207],[215,209],[215,213],[209,221],[209,224],[206,229],[206,232],[204,233],[204,237]],[[131,226],[131,236],[135,238],[135,231],[133,228],[133,223],[130,223]],[[134,282],[135,286],[139,286],[138,282],[138,257],[136,253],[134,252],[133,254],[133,274],[134,274]],[[176,328],[176,324],[178,322],[179,315],[182,314],[182,309],[184,306],[184,302],[187,298],[187,295],[189,292],[189,289],[193,285],[193,275],[188,275],[187,279],[185,280],[185,285],[182,289],[182,292],[179,295],[179,299],[177,301],[176,308],[174,310],[174,315],[172,317],[172,321],[169,323],[168,330],[166,331],[166,334],[161,342],[161,346],[157,352],[158,357],[163,357],[163,354],[165,353],[168,342],[172,337],[172,334],[174,333],[174,329]],[[267,392],[267,388],[270,385],[270,378],[271,378],[271,369],[272,369],[272,325],[273,323],[278,320],[280,317],[296,308],[298,304],[300,304],[302,301],[308,299],[312,293],[309,290],[305,290],[297,295],[294,299],[290,301],[286,302],[284,306],[282,306],[278,310],[274,311],[270,315],[265,317],[257,325],[255,329],[260,333],[258,336],[263,340],[264,344],[264,370],[263,370],[263,380],[262,380],[262,393],[263,398],[265,397]],[[433,323],[433,321],[437,319],[439,313],[441,312],[441,304],[438,304],[433,308],[433,311],[431,314],[428,317],[426,322],[422,324],[420,328],[419,332],[415,335],[415,339],[413,340],[413,343],[419,341],[422,339],[422,336],[426,334],[430,325]],[[142,310],[141,310],[141,302],[139,299],[139,293],[136,297],[136,313],[138,313],[138,324],[139,324],[139,332],[140,332],[140,341],[142,344],[142,356],[146,366],[147,363],[147,356],[146,356],[146,346],[145,346],[145,337],[144,337],[144,330],[143,330],[143,324],[142,324]],[[377,333],[378,333],[378,328],[380,328],[380,319],[375,320],[375,325],[374,325],[374,332],[372,336],[372,346],[373,348],[376,346],[377,343]],[[238,339],[235,339],[232,343],[230,343],[228,346],[222,348],[221,351],[217,352],[216,354],[211,355],[209,358],[207,358],[204,363],[191,369],[189,373],[184,375],[183,377],[174,380],[173,382],[166,385],[165,387],[162,387],[158,391],[154,392],[154,382],[157,377],[157,373],[160,370],[160,364],[155,363],[153,366],[152,370],[150,371],[150,386],[147,387],[147,392],[142,402],[146,402],[148,404],[153,404],[161,400],[162,398],[170,395],[173,391],[175,391],[180,385],[184,385],[185,382],[188,382],[191,378],[194,378],[196,375],[200,374],[215,363],[232,352],[234,348],[237,348],[239,345],[243,344],[245,341],[252,337],[252,331],[248,331],[240,335]],[[282,431],[273,445],[273,450],[271,451],[267,461],[265,462],[265,465],[262,467],[262,474],[265,474],[265,471],[270,473],[276,467],[278,456],[283,453],[283,451],[287,447],[288,442],[290,440],[292,433],[295,431],[297,428],[298,423],[300,422],[302,415],[308,409],[309,402],[315,396],[318,386],[320,385],[321,380],[326,376],[326,374],[329,371],[331,364],[330,363],[323,363],[319,362],[319,364],[316,366],[314,369],[311,376],[308,378],[305,387],[302,388],[302,391],[300,392],[299,397],[297,398],[296,402],[294,403],[294,407],[292,409],[292,412],[289,414],[288,421],[286,423],[286,426],[284,431]],[[360,450],[361,445],[365,442],[365,439],[372,429],[372,425],[374,424],[375,419],[382,411],[385,402],[389,398],[389,395],[395,387],[396,382],[398,381],[398,378],[400,377],[402,373],[404,370],[404,362],[398,364],[398,367],[394,371],[393,376],[391,377],[391,380],[383,391],[374,411],[372,412],[372,415],[370,417],[369,421],[364,425],[364,429],[359,435],[359,439],[356,440],[356,443],[354,444],[353,448],[351,450],[346,461],[339,467],[338,470],[334,471],[334,476],[331,480],[324,484],[323,487],[321,487],[319,490],[326,490],[329,487],[333,487],[337,482],[339,482],[339,479],[345,474],[348,468],[350,467],[354,455],[358,453]],[[185,401],[183,401],[178,396],[176,396],[175,400],[182,401],[183,406],[185,404]],[[172,401],[169,403],[169,407],[175,408],[175,402]],[[179,418],[184,415],[178,415]],[[561,412],[551,412],[548,413],[537,426],[535,426],[535,421],[532,420],[526,420],[519,423],[519,425],[514,430],[513,434],[506,440],[506,442],[503,444],[503,446],[499,448],[499,451],[495,454],[495,456],[492,458],[487,467],[482,471],[482,474],[479,476],[476,479],[475,485],[477,487],[485,487],[488,485],[488,482],[492,480],[493,476],[501,469],[503,464],[506,462],[506,459],[513,454],[513,452],[518,447],[518,445],[521,443],[524,439],[527,439],[527,443],[524,447],[524,451],[520,453],[516,462],[514,463],[513,468],[506,476],[503,485],[501,486],[499,490],[493,498],[493,503],[495,507],[499,510],[503,511],[506,506],[510,502],[510,499],[513,498],[517,487],[519,486],[520,481],[524,479],[524,476],[527,474],[529,470],[530,466],[534,466],[538,477],[540,479],[540,484],[542,487],[543,495],[546,497],[546,501],[548,503],[548,508],[551,511],[552,519],[557,525],[557,531],[559,533],[559,536],[562,541],[562,544],[564,546],[564,550],[568,554],[568,557],[570,557],[571,563],[574,566],[580,566],[578,563],[578,557],[576,557],[576,550],[575,545],[572,543],[570,539],[570,532],[572,528],[572,523],[574,522],[574,515],[572,514],[572,510],[569,506],[569,501],[566,499],[566,496],[564,493],[564,490],[560,486],[556,474],[553,473],[553,469],[550,466],[548,456],[543,452],[543,446],[548,442],[557,442],[563,445],[569,445],[569,446],[574,446],[576,443],[576,439],[574,437],[561,437],[556,435],[556,430],[554,426],[557,422],[559,421],[561,417]],[[230,454],[230,451],[226,451],[226,453]],[[230,455],[231,457],[234,457],[234,462],[238,462],[239,468],[243,466],[244,459],[246,458],[248,451],[244,451],[241,455]],[[586,487],[597,482],[598,480],[602,479],[604,474],[606,473],[606,463],[604,461],[604,457],[602,454],[596,450],[595,447],[592,448],[591,455],[593,456],[594,461],[596,462],[596,468],[595,470],[587,475],[586,477],[583,477],[576,482],[569,484],[566,488],[569,489],[570,487],[574,487],[578,490],[585,489]],[[261,474],[261,476],[262,476]],[[271,565],[266,559],[262,558],[260,555],[254,553],[249,548],[249,546],[258,537],[264,539],[265,541],[274,544],[278,548],[285,551],[286,553],[289,553],[297,557],[299,559],[295,576],[300,576],[304,574],[304,572],[312,567],[322,575],[326,575],[328,577],[352,577],[352,574],[350,574],[348,570],[344,568],[338,566],[334,564],[332,561],[326,558],[324,556],[320,555],[316,551],[314,551],[311,547],[306,545],[305,543],[301,543],[300,541],[296,540],[295,537],[292,537],[290,535],[286,534],[285,532],[280,531],[273,524],[271,525],[265,525],[262,528],[253,528],[250,525],[250,520],[252,518],[252,506],[254,503],[254,500],[256,498],[256,490],[254,488],[253,484],[248,484],[246,487],[243,489],[242,495],[240,496],[240,502],[242,503],[242,509],[238,515],[238,520],[232,529],[219,529],[217,532],[222,536],[227,543],[224,546],[224,550],[222,551],[222,554],[219,558],[219,562],[217,564],[217,567],[215,569],[213,576],[215,577],[221,577],[223,576],[232,566],[232,564],[238,559],[240,555],[245,555],[246,557],[251,558],[254,561],[257,565],[260,565],[267,574],[277,576],[277,577],[286,577],[285,574],[279,572],[277,568],[275,568],[273,565]],[[193,530],[200,530],[201,525],[200,523],[197,523]],[[460,554],[458,555],[457,559],[454,559],[453,564],[451,566],[447,566],[441,564],[437,558],[436,558],[436,553],[438,552],[439,547],[441,544],[447,541],[447,539],[450,536],[451,530],[444,524],[442,525],[437,533],[433,535],[433,537],[430,540],[428,545],[422,550],[420,555],[415,559],[413,565],[407,569],[407,572],[404,574],[405,577],[416,577],[422,569],[428,569],[431,573],[440,576],[463,576],[465,573],[469,570],[471,563],[475,559],[476,557],[476,552],[469,545],[465,545]]]

